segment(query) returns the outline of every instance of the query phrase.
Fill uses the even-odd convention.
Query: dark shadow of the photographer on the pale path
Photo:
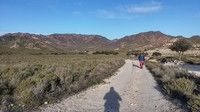
[[[104,112],[119,112],[119,101],[122,101],[122,99],[114,90],[114,87],[110,88],[110,91],[105,94],[103,99],[105,100]]]

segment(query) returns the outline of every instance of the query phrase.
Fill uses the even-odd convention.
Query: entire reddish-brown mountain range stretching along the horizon
[[[51,34],[38,35],[29,33],[8,33],[0,36],[0,52],[67,52],[120,50],[133,48],[168,47],[182,36],[173,37],[159,31],[142,32],[109,40],[100,35]],[[193,43],[200,43],[200,36],[189,38]]]

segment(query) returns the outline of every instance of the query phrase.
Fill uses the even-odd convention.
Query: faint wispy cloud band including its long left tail
[[[91,12],[73,11],[73,15],[95,15],[103,19],[134,19],[140,15],[155,13],[162,9],[161,2],[118,5],[112,9],[96,9]]]

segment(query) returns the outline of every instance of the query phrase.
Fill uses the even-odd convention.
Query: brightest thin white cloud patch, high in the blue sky
[[[145,3],[142,5],[126,5],[122,6],[122,9],[128,13],[153,13],[162,9],[160,2]]]

